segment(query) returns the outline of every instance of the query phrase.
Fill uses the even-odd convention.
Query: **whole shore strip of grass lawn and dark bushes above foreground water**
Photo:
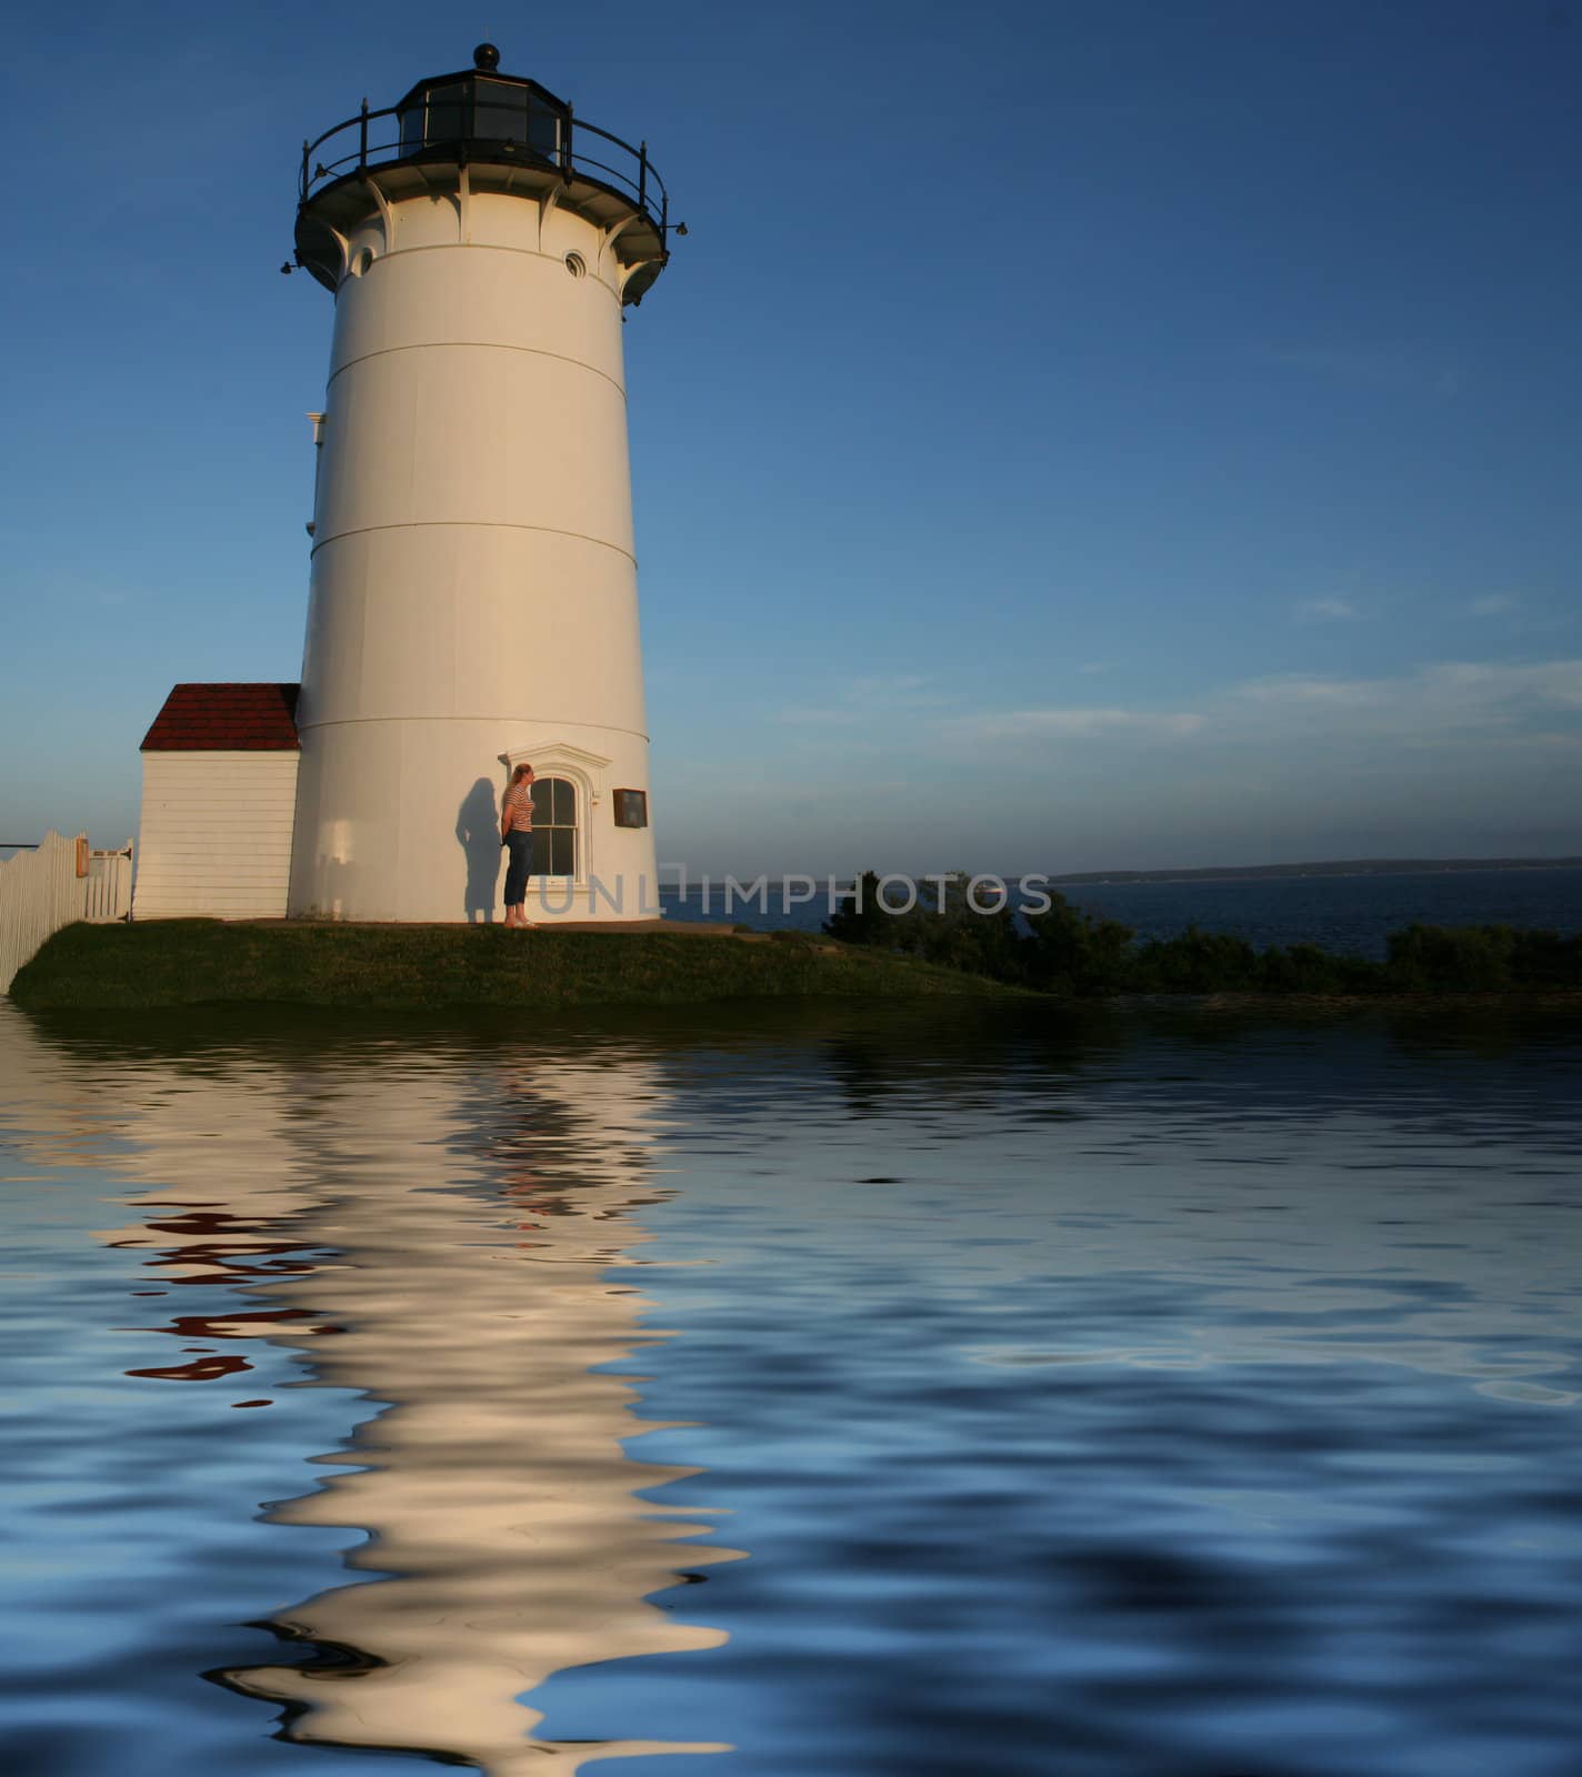
[[[1134,933],[1056,897],[1043,915],[889,917],[873,903],[832,922],[837,940],[672,931],[505,931],[499,926],[68,926],[11,997],[36,1009],[284,1004],[693,1006],[752,999],[894,1000],[1253,999],[1319,1004],[1520,997],[1582,1004],[1582,933],[1410,926],[1381,961],[1317,945],[1257,951],[1189,928]]]

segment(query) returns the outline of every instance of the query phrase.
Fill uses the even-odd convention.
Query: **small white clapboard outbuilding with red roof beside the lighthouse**
[[[178,684],[142,741],[133,919],[284,919],[297,686]]]

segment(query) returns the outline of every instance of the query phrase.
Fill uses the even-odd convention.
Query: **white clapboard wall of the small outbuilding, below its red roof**
[[[297,752],[148,752],[133,919],[284,919]]]

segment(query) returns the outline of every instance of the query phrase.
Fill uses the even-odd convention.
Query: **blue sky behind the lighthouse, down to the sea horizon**
[[[295,679],[304,135],[475,41],[647,137],[659,855],[1582,851],[1582,5],[100,0],[7,30],[0,841]]]

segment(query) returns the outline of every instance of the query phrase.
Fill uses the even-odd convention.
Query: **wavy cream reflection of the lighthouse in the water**
[[[366,1578],[276,1617],[325,1658],[220,1676],[284,1702],[292,1740],[499,1777],[725,1750],[540,1740],[521,1701],[567,1667],[720,1646],[647,1599],[729,1551],[679,1542],[709,1528],[695,1510],[638,1498],[695,1471],[633,1461],[635,1390],[594,1374],[654,1336],[622,1274],[647,1239],[627,1215],[652,1199],[652,1070],[523,1057],[512,1073],[501,1054],[206,1068],[190,1089],[139,1095],[148,1114],[123,1125],[123,1169],[160,1187],[148,1226],[107,1239],[155,1249],[151,1276],[169,1281],[267,1249],[261,1221],[283,1253],[331,1249],[281,1260],[300,1269],[249,1290],[261,1313],[235,1331],[308,1352],[308,1386],[388,1402],[315,1459],[341,1473],[268,1512],[368,1534],[345,1557]],[[245,1180],[217,1176],[217,1130],[245,1139]],[[192,1215],[204,1231],[187,1251]],[[228,1317],[212,1322],[226,1338]]]

